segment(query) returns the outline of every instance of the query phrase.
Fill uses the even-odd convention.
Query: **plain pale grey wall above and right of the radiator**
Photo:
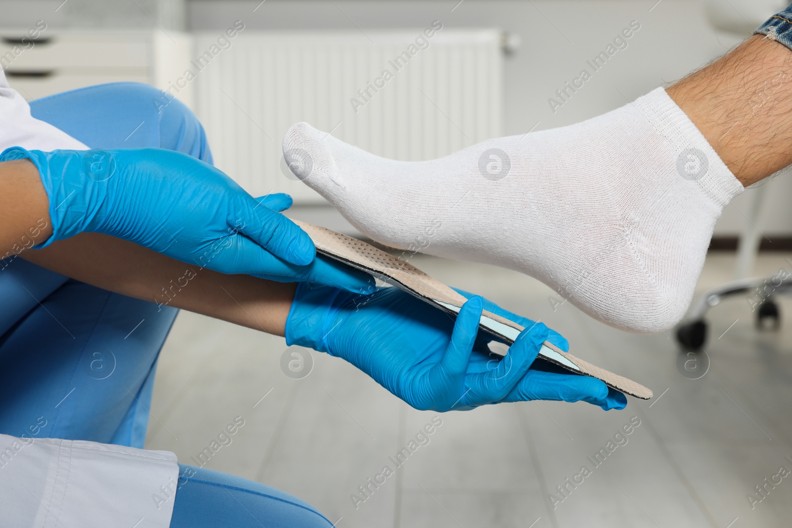
[[[691,0],[193,0],[188,27],[224,28],[241,19],[249,28],[410,28],[435,19],[445,27],[499,27],[518,34],[522,47],[505,68],[505,130],[521,134],[587,119],[626,104],[650,89],[673,82],[722,55],[741,36],[716,33],[703,2]],[[734,0],[732,0],[734,3]],[[726,4],[728,6],[728,4]],[[455,7],[456,6],[456,7]],[[454,8],[452,10],[452,8]],[[257,8],[257,9],[256,9]],[[653,8],[653,9],[652,9]],[[253,9],[256,9],[253,12]],[[651,9],[651,10],[650,10]],[[577,76],[632,20],[641,29],[607,65],[556,112],[547,102]],[[768,235],[792,235],[792,180],[781,177],[759,227]],[[745,195],[729,206],[716,234],[741,230]]]

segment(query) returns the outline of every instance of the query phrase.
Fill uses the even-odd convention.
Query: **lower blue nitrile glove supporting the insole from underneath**
[[[286,321],[286,342],[346,359],[422,410],[528,400],[624,408],[623,395],[621,400],[609,397],[607,386],[596,378],[529,370],[550,333],[541,323],[529,321],[508,355],[493,361],[486,348],[492,338],[478,334],[485,303],[490,310],[494,306],[470,298],[454,321],[395,287],[364,296],[300,283]]]

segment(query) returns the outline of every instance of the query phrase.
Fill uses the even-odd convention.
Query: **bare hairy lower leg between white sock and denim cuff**
[[[755,35],[666,90],[745,186],[792,163],[792,51]]]

